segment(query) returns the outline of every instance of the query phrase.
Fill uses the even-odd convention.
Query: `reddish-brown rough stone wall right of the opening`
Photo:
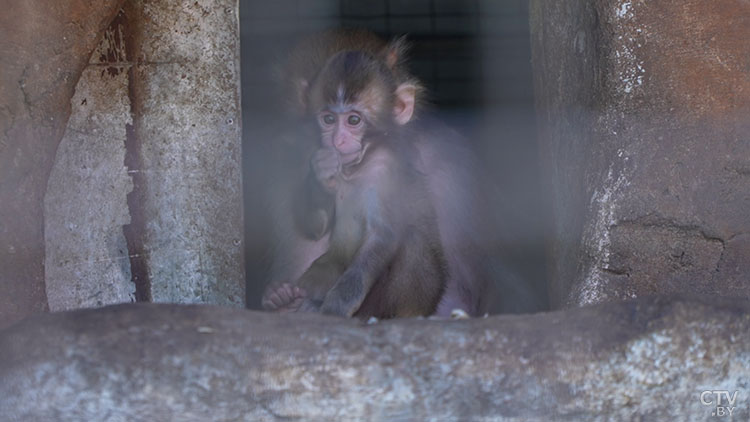
[[[750,298],[750,3],[531,2],[555,306]]]

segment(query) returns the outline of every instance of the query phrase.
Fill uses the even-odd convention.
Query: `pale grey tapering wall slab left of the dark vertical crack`
[[[130,65],[118,16],[76,85],[44,197],[52,311],[135,301],[122,231],[130,223],[126,195],[133,189],[124,165]]]

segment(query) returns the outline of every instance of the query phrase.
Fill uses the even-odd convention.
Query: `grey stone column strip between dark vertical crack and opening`
[[[156,302],[243,306],[237,1],[136,0],[125,13],[134,279]]]

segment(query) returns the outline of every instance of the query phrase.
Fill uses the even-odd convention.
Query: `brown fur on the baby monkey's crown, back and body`
[[[427,182],[415,170],[416,150],[392,121],[395,90],[383,59],[364,52],[334,55],[311,87],[313,109],[343,94],[369,125],[360,140],[363,157],[341,169],[335,195],[318,190],[311,203],[325,197],[333,202],[322,208],[333,222],[330,248],[296,283],[311,309],[344,316],[426,316],[435,312],[445,289],[446,265]],[[319,215],[314,208],[301,215]]]

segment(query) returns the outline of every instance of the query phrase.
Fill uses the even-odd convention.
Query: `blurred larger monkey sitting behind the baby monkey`
[[[287,93],[286,98],[289,99],[289,111],[296,116],[290,118],[287,126],[296,133],[294,136],[297,138],[297,143],[294,144],[293,149],[284,146],[285,155],[289,158],[285,158],[281,163],[297,163],[300,157],[310,156],[303,152],[302,148],[311,140],[310,136],[313,136],[306,135],[302,129],[305,127],[302,121],[310,117],[308,114],[311,99],[310,86],[314,85],[314,80],[326,63],[342,51],[361,51],[382,60],[385,66],[391,69],[392,79],[396,85],[414,84],[414,92],[417,104],[419,104],[423,91],[419,82],[405,70],[405,50],[406,44],[403,39],[388,44],[372,33],[362,30],[326,31],[307,38],[296,48],[280,75],[284,75],[281,82]],[[375,103],[379,101],[373,99],[380,95],[378,92],[382,93],[376,90],[359,94],[361,99],[371,104],[369,101]],[[369,110],[367,113],[372,114]],[[486,204],[481,195],[481,180],[476,174],[476,158],[460,135],[439,121],[427,115],[420,116],[420,114],[417,113],[415,118],[410,118],[404,126],[399,126],[396,132],[393,132],[387,125],[378,126],[376,129],[379,129],[381,133],[368,135],[368,140],[373,144],[380,140],[394,141],[395,145],[387,144],[383,151],[395,154],[396,163],[403,162],[412,165],[413,168],[410,171],[413,171],[415,177],[421,180],[418,184],[427,185],[425,188],[414,188],[419,192],[417,197],[420,199],[417,202],[421,203],[424,197],[422,193],[426,192],[439,229],[439,249],[444,257],[444,263],[447,264],[445,290],[435,313],[448,316],[453,309],[461,308],[470,315],[479,315],[485,312],[487,306],[490,278],[486,265],[489,233],[486,221],[488,218],[485,214]],[[305,116],[304,119],[302,116]],[[393,136],[386,136],[387,133]],[[405,149],[390,149],[395,147],[405,147]],[[404,151],[407,155],[400,155]],[[295,160],[292,161],[292,159]],[[295,213],[297,216],[315,215],[309,211],[299,212],[306,210],[299,206],[301,200],[326,198],[324,195],[319,195],[320,192],[315,192],[318,183],[314,176],[312,178],[308,176],[307,181],[302,181],[301,177],[298,178],[298,173],[300,173],[296,171],[298,168],[304,173],[309,165],[305,165],[304,162],[299,165],[295,164],[295,171],[286,170],[281,175],[273,177],[274,180],[278,180],[276,184],[283,189],[273,189],[273,198],[270,201],[275,216],[273,241],[276,246],[272,256],[269,285],[263,296],[266,309],[284,310],[287,305],[280,305],[281,302],[296,304],[302,299],[302,297],[293,297],[291,292],[295,287],[293,285],[290,287],[290,284],[294,284],[300,274],[309,270],[311,262],[315,262],[325,254],[325,251],[329,251],[329,244],[332,242],[331,223],[335,224],[335,222],[332,222],[330,218],[335,218],[336,214],[331,212],[334,208],[332,206],[325,209],[325,201],[314,204],[314,208],[318,208],[319,211],[317,215],[324,215],[326,218],[320,220],[319,224],[316,223],[316,228],[310,231],[312,235],[303,235],[297,229],[299,226],[292,223],[297,221],[296,218],[292,218]],[[398,192],[395,195],[396,201],[408,204],[407,200],[410,195],[408,189],[406,194],[401,191],[394,192]],[[401,229],[400,233],[408,232],[408,229]],[[433,239],[434,235],[426,237]],[[429,240],[427,244],[431,244],[432,241]],[[287,288],[279,287],[285,284]],[[383,296],[379,293],[378,286],[385,287],[387,283],[375,283],[371,286],[370,294],[375,296],[368,297],[362,302],[357,311],[358,315],[378,315],[379,312],[391,316],[401,315],[401,313],[387,310],[382,302],[374,300],[375,297]],[[419,294],[422,290],[422,287],[418,287],[418,283],[415,283],[415,286],[417,286],[415,289],[406,289],[399,295],[403,295],[406,300],[414,300],[409,299],[411,295],[415,292]],[[323,292],[326,292],[330,290],[331,285],[321,283],[320,287]],[[431,297],[431,295],[425,297],[428,296]],[[416,300],[415,303],[417,302],[420,301]],[[403,315],[406,314],[410,313],[403,313]]]

